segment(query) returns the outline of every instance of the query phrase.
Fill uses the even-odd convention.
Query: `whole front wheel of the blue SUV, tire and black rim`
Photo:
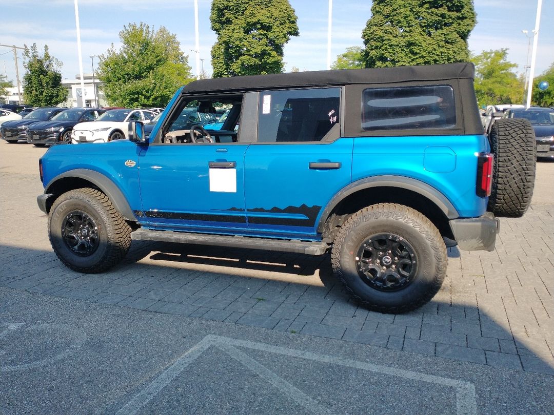
[[[131,228],[110,199],[96,189],[61,195],[50,210],[48,235],[60,261],[86,273],[113,267],[131,246]]]

